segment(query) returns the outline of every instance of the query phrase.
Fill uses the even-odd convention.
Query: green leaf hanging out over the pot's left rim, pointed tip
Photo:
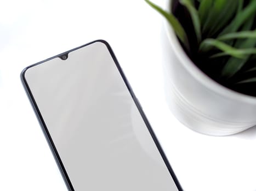
[[[147,4],[149,4],[153,9],[157,10],[158,13],[163,15],[167,21],[169,22],[170,26],[173,27],[175,34],[178,36],[180,41],[184,44],[187,50],[189,50],[189,40],[187,39],[186,32],[184,28],[181,26],[178,19],[172,13],[168,13],[167,11],[163,10],[162,8],[158,7],[158,5],[150,2],[149,0],[145,0]]]

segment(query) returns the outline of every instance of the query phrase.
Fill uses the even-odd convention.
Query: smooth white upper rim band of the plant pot
[[[173,0],[166,0],[166,9],[170,11],[170,3]],[[183,47],[180,45],[179,40],[173,31],[173,28],[169,25],[169,23],[164,19],[164,28],[167,33],[167,37],[170,41],[170,46],[172,46],[175,55],[177,55],[183,67],[193,76],[195,79],[201,83],[206,88],[210,89],[211,91],[220,94],[220,96],[224,96],[230,99],[237,100],[239,102],[246,102],[249,104],[256,105],[256,97],[249,96],[246,94],[242,94],[236,92],[232,89],[229,89],[220,83],[211,79],[211,77],[207,76],[203,73],[202,70],[197,68],[197,66],[191,61],[191,59],[187,56],[186,52],[183,50]]]

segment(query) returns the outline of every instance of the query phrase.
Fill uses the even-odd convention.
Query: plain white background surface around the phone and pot
[[[255,127],[207,136],[184,127],[168,110],[163,19],[144,1],[0,3],[0,190],[66,190],[20,72],[95,39],[112,46],[185,190],[256,190]]]

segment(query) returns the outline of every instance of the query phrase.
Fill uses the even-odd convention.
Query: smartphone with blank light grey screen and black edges
[[[69,190],[182,190],[106,41],[30,65],[21,79]]]

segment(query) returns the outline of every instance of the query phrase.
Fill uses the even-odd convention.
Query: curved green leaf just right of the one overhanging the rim
[[[200,44],[202,37],[201,37],[201,24],[200,24],[198,12],[190,0],[180,0],[180,3],[183,4],[190,13],[190,16],[194,25],[194,29],[196,32],[197,42],[198,44]]]

